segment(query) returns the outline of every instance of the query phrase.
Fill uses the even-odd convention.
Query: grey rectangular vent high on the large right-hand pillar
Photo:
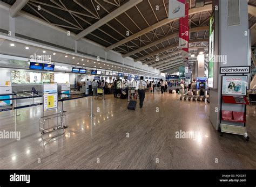
[[[227,1],[228,26],[240,25],[239,0]]]

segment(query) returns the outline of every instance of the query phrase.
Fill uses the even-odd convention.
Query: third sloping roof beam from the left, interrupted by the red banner
[[[212,4],[208,4],[208,5],[205,5],[205,6],[203,6],[203,7],[192,8],[192,9],[188,10],[188,15],[193,15],[193,14],[195,14],[195,13],[205,12],[205,11],[211,11],[211,10],[212,10]],[[177,19],[165,18],[165,19],[163,19],[163,20],[157,22],[156,24],[153,24],[153,25],[151,25],[151,26],[149,26],[149,27],[144,28],[144,30],[139,31],[139,32],[137,32],[137,33],[131,35],[130,37],[127,37],[127,38],[125,38],[125,39],[123,39],[123,40],[118,41],[116,44],[113,44],[113,45],[111,45],[111,46],[109,46],[109,47],[106,47],[105,50],[106,50],[106,51],[110,51],[111,49],[116,48],[117,46],[123,45],[123,44],[125,44],[125,43],[128,42],[128,41],[131,41],[131,40],[133,40],[133,39],[135,39],[135,38],[140,37],[140,35],[146,34],[146,33],[150,32],[150,31],[152,31],[152,30],[154,30],[154,29],[156,29],[156,28],[158,28],[158,27],[160,27],[160,26],[163,26],[163,25],[165,25],[165,24],[168,24],[168,23],[170,23],[170,22],[172,22],[172,21],[175,21],[175,20],[178,20],[178,19],[179,19],[179,18],[177,18]]]

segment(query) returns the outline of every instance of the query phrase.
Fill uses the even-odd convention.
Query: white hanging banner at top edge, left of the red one
[[[169,19],[185,16],[185,0],[169,0]]]

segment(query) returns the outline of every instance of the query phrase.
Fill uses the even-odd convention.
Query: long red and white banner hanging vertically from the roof
[[[186,67],[188,66],[188,40],[188,3],[186,3],[185,17],[179,18],[179,48],[182,51],[183,62]]]

